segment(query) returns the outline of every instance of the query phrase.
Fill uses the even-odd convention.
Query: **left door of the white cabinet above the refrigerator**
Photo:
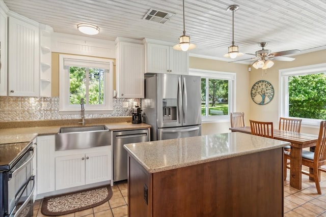
[[[169,73],[169,46],[147,44],[147,72]]]

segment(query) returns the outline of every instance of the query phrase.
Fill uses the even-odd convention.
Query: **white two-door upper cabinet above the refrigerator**
[[[189,72],[189,53],[173,49],[169,42],[144,39],[145,73],[171,73],[186,75]]]

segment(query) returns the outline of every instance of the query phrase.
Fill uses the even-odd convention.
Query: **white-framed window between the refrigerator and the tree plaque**
[[[189,74],[201,77],[202,120],[229,120],[235,102],[235,73],[189,69]]]

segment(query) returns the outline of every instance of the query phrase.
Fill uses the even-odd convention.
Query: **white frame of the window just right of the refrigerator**
[[[202,69],[189,69],[189,75],[200,76],[201,78],[228,80],[229,81],[229,96],[228,96],[229,113],[227,115],[202,116],[202,122],[230,121],[230,112],[232,112],[235,109],[236,73],[202,70]]]

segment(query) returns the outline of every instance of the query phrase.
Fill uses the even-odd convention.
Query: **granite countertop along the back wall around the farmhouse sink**
[[[92,125],[105,125],[111,131],[150,128],[150,125],[147,125],[146,123],[134,124],[131,122],[86,124],[86,126],[92,126]],[[68,126],[70,127],[70,126],[80,126],[80,125],[76,124],[76,125],[68,125]],[[0,129],[0,144],[30,142],[36,136],[39,135],[57,134],[61,127],[67,127],[67,126],[62,125],[62,126],[20,127],[20,128]]]

